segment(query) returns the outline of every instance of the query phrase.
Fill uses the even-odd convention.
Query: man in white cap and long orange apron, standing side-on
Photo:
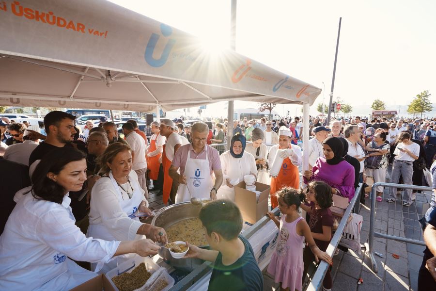
[[[174,132],[173,129],[174,122],[171,119],[164,118],[160,120],[160,133],[167,139],[165,145],[163,145],[163,153],[160,158],[164,173],[163,203],[165,204],[168,203],[169,198],[171,198],[170,203],[174,204],[177,188],[179,188],[179,182],[176,180],[173,181],[169,174],[174,154],[177,152],[179,147],[182,146],[180,135]]]

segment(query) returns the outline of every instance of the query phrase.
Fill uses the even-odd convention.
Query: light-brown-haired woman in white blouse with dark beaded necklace
[[[140,187],[138,176],[132,171],[132,154],[129,146],[122,143],[109,145],[98,158],[104,173],[93,186],[87,237],[103,240],[140,240],[167,242],[167,234],[161,227],[141,223],[138,216],[150,215],[148,201]],[[114,258],[105,264],[105,273],[129,259],[132,255]],[[91,264],[94,270],[96,264]]]

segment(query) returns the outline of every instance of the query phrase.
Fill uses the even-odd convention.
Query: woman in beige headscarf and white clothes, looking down
[[[269,184],[271,178],[269,178],[267,167],[268,148],[263,144],[265,140],[264,131],[260,128],[255,128],[251,131],[251,143],[247,145],[245,151],[252,154],[257,167],[257,181]]]

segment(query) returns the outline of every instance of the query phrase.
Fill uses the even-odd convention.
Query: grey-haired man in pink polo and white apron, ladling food
[[[218,150],[206,145],[208,126],[195,123],[191,132],[192,143],[177,150],[169,170],[170,177],[180,183],[175,203],[190,201],[192,197],[215,200],[222,184]]]

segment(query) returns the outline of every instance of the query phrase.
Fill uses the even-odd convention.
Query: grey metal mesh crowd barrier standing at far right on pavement
[[[377,273],[378,269],[374,257],[374,238],[383,238],[425,246],[425,242],[422,238],[422,226],[418,220],[424,216],[427,210],[425,207],[425,201],[415,200],[415,202],[409,207],[403,207],[402,199],[396,199],[395,202],[389,203],[385,202],[387,198],[383,197],[382,202],[376,202],[375,188],[377,186],[433,192],[432,187],[424,186],[384,182],[377,182],[373,185],[371,190],[371,217],[368,253],[371,259],[372,269],[375,273]],[[426,194],[424,193],[424,196],[425,195]],[[375,231],[375,228],[377,228],[378,231]]]

